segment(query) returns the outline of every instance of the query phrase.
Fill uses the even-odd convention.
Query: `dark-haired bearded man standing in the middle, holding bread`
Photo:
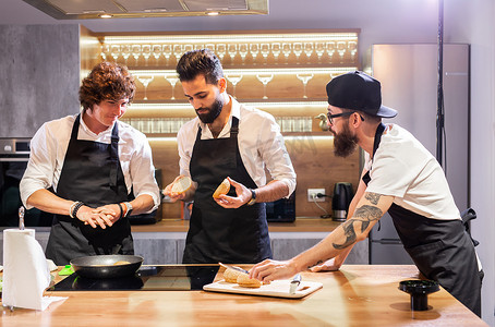
[[[178,133],[180,174],[191,177],[193,187],[172,193],[171,183],[165,190],[172,201],[194,201],[183,263],[271,257],[265,203],[289,197],[295,189],[280,128],[271,114],[227,94],[221,63],[210,50],[184,53],[177,72],[197,114]],[[230,192],[213,198],[226,178]]]

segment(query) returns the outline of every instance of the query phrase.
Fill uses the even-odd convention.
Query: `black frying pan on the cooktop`
[[[129,262],[124,265],[114,265],[117,262]],[[87,278],[118,278],[134,275],[143,264],[138,255],[93,255],[81,256],[71,261],[74,271]]]

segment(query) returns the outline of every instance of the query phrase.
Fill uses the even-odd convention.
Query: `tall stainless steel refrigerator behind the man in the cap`
[[[444,170],[459,210],[469,205],[469,45],[444,45]],[[364,71],[382,83],[393,122],[436,154],[437,45],[373,45]],[[370,264],[411,264],[386,214],[370,233]]]

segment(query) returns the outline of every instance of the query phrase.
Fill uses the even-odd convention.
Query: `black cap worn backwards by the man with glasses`
[[[327,96],[328,104],[335,107],[384,118],[397,116],[396,110],[382,106],[379,82],[360,71],[342,74],[328,82]]]

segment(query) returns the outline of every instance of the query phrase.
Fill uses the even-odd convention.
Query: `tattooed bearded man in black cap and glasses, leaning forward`
[[[411,133],[382,122],[397,111],[382,105],[381,84],[375,78],[355,71],[335,77],[326,90],[335,154],[346,157],[358,145],[366,154],[348,219],[289,261],[255,265],[250,277],[271,281],[307,268],[337,270],[353,244],[366,239],[388,211],[421,274],[481,316],[481,263],[442,167]]]

